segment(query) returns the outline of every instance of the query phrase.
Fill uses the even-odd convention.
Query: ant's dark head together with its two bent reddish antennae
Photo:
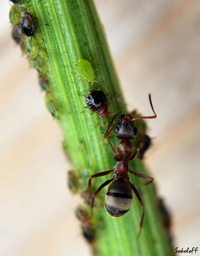
[[[108,125],[107,131],[105,132],[105,135],[103,139],[107,138],[109,133],[112,131],[112,129],[115,127],[115,135],[118,139],[127,139],[132,140],[135,139],[138,134],[138,129],[136,127],[135,120],[138,119],[151,119],[156,118],[157,114],[154,111],[152,102],[151,102],[151,94],[149,94],[149,102],[151,105],[151,109],[154,113],[154,116],[143,116],[143,117],[135,117],[132,118],[130,114],[124,114],[122,115],[119,120],[111,127],[112,122],[114,121],[114,118],[112,118],[110,124]],[[111,128],[110,128],[111,127]]]

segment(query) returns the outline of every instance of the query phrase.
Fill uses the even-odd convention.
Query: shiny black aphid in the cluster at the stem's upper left
[[[33,37],[36,31],[35,19],[30,15],[29,12],[25,12],[20,22],[20,28],[22,33],[27,37]]]

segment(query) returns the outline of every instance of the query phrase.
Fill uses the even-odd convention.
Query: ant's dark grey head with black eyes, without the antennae
[[[136,123],[130,114],[122,115],[115,127],[115,136],[118,139],[133,140],[138,134]]]

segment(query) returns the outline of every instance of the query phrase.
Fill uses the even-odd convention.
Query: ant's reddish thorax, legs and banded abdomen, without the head
[[[136,148],[136,151],[132,156],[131,156],[132,143],[130,142],[130,140],[127,140],[127,139],[120,140],[117,147],[117,153],[115,151],[115,148],[112,146],[112,144],[111,143],[109,144],[111,146],[112,152],[115,155],[114,159],[115,161],[117,161],[117,163],[112,170],[92,175],[89,178],[89,182],[88,182],[89,189],[91,188],[92,178],[105,176],[112,172],[115,172],[115,173],[110,180],[105,181],[93,194],[91,209],[93,208],[93,205],[94,205],[95,196],[101,191],[102,188],[104,188],[106,185],[108,185],[113,181],[110,187],[108,188],[108,192],[105,196],[105,208],[108,214],[111,215],[112,217],[121,217],[124,214],[126,214],[131,207],[132,191],[134,191],[143,210],[141,221],[140,221],[140,228],[142,228],[144,214],[145,214],[145,206],[142,202],[141,196],[139,195],[135,186],[130,182],[129,176],[128,176],[128,172],[129,172],[134,174],[137,177],[145,178],[149,180],[145,182],[144,185],[150,184],[153,181],[153,178],[147,175],[131,171],[128,165],[129,161],[137,157],[140,149],[142,148],[142,143],[139,145],[139,147]]]

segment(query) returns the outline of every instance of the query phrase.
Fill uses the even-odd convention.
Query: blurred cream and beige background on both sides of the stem
[[[200,255],[200,1],[95,0],[130,110],[149,120],[145,162],[172,214],[174,249]],[[72,166],[36,71],[0,0],[0,255],[89,256],[66,188]],[[178,254],[178,253],[177,253]]]

